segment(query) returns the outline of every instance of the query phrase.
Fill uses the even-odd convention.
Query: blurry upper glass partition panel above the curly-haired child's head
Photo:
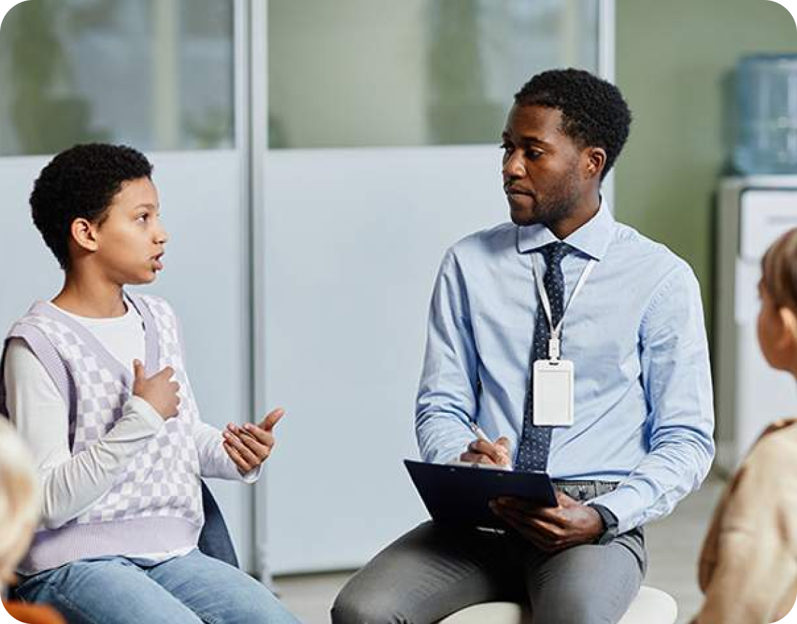
[[[26,0],[0,27],[0,155],[234,143],[233,0]]]

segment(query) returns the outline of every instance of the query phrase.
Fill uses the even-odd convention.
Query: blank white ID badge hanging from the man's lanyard
[[[538,359],[534,363],[532,416],[536,426],[573,424],[573,372],[569,359]]]

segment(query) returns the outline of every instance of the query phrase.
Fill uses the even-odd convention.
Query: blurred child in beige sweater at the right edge
[[[762,261],[758,339],[770,366],[797,379],[797,230]],[[797,598],[797,419],[773,423],[728,485],[706,536],[693,624],[771,624]]]

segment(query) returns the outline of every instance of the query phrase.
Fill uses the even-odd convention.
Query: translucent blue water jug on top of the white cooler
[[[797,54],[741,57],[736,112],[736,170],[797,173]]]

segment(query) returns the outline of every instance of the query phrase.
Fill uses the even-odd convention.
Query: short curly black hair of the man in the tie
[[[614,166],[626,144],[631,112],[620,90],[583,69],[551,69],[532,77],[515,94],[518,106],[544,106],[562,113],[562,131],[579,147],[603,147],[606,165]]]

